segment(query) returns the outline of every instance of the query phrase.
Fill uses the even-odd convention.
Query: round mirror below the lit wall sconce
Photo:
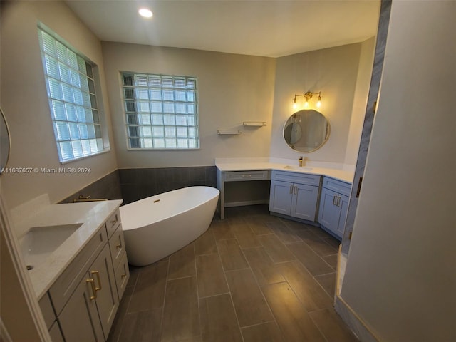
[[[293,150],[314,152],[329,137],[329,123],[325,116],[313,109],[294,113],[284,125],[284,140]]]

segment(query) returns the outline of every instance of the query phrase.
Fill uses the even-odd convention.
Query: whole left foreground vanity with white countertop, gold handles
[[[47,205],[21,222],[26,233],[19,239],[20,244],[28,234],[48,231],[56,237],[62,228],[74,227],[39,262],[33,254],[41,251],[34,251],[33,246],[28,251],[23,249],[52,341],[107,340],[130,276],[119,214],[121,203]],[[32,229],[26,229],[32,225]]]

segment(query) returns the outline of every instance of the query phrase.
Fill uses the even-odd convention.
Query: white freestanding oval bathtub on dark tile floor
[[[152,264],[190,244],[206,232],[219,190],[184,187],[120,207],[128,262]]]

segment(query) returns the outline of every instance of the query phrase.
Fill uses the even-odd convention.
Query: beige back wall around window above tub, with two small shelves
[[[120,168],[214,165],[215,157],[268,157],[274,99],[274,58],[103,42]],[[199,150],[127,150],[119,71],[197,76]],[[245,129],[244,121],[266,121]],[[217,135],[241,129],[241,135]]]

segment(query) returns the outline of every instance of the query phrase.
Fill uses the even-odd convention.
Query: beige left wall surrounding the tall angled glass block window
[[[42,22],[98,65],[110,152],[61,165],[58,160],[41,62],[37,24]],[[86,173],[4,173],[2,191],[10,209],[48,193],[59,202],[117,170],[110,109],[98,38],[63,1],[1,1],[1,108],[11,131],[8,167],[86,167]]]

